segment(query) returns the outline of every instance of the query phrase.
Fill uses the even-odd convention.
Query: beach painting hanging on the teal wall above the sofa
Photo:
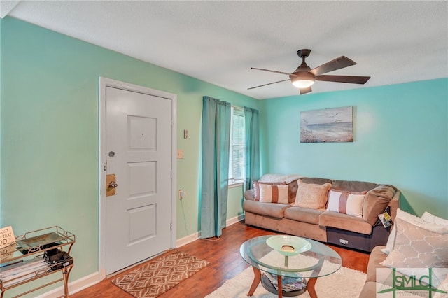
[[[300,143],[353,142],[353,106],[300,112]]]

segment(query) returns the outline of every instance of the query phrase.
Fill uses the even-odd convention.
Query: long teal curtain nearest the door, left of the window
[[[221,236],[227,220],[230,103],[202,98],[201,238]]]

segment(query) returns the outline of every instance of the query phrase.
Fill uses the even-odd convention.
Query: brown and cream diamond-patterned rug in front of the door
[[[206,267],[209,262],[172,250],[112,280],[136,298],[158,297]]]

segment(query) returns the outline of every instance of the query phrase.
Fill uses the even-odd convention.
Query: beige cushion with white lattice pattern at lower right
[[[395,246],[381,265],[391,268],[448,267],[448,234],[395,218]]]

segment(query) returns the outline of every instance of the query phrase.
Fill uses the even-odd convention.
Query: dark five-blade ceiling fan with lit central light
[[[291,83],[300,89],[300,94],[305,94],[311,92],[311,85],[314,84],[315,80],[325,80],[327,82],[337,82],[337,83],[352,83],[352,84],[365,84],[370,76],[332,76],[332,75],[322,75],[323,73],[328,73],[330,71],[335,71],[337,69],[343,69],[344,67],[355,65],[356,62],[353,60],[341,56],[336,59],[332,59],[330,62],[322,64],[321,66],[311,69],[305,62],[305,58],[309,56],[311,50],[303,49],[297,50],[297,55],[302,58],[302,64],[300,64],[293,73],[286,73],[283,71],[272,71],[269,69],[258,69],[251,67],[251,69],[258,69],[259,71],[270,71],[272,73],[282,73],[289,76]],[[277,82],[267,83],[263,85],[258,85],[255,87],[248,88],[255,89],[262,86],[272,85],[276,83],[286,82],[287,80],[279,80]]]

